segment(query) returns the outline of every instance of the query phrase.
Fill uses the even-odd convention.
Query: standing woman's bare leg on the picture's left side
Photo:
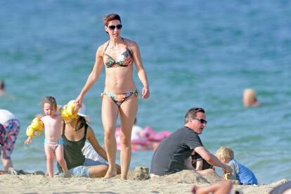
[[[108,171],[105,174],[105,178],[111,178],[116,176],[117,170],[115,167],[116,161],[116,138],[115,138],[115,128],[116,119],[118,117],[119,108],[108,96],[103,96],[102,101],[102,123],[104,128],[104,144],[106,155],[108,159]]]

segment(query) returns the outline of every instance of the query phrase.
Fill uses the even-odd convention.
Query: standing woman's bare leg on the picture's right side
[[[124,101],[120,106],[120,164],[121,164],[121,179],[126,180],[129,172],[129,164],[131,160],[131,130],[134,125],[134,118],[138,110],[138,100],[135,95],[131,95],[127,101]]]

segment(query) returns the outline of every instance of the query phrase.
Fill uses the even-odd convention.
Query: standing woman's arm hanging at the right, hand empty
[[[138,78],[141,80],[143,84],[143,91],[141,93],[142,98],[148,98],[150,96],[150,89],[148,86],[148,79],[146,77],[145,70],[143,68],[143,63],[141,61],[141,51],[139,51],[138,44],[136,42],[131,41],[131,51],[134,55],[134,64],[136,64],[136,71],[138,73]]]

